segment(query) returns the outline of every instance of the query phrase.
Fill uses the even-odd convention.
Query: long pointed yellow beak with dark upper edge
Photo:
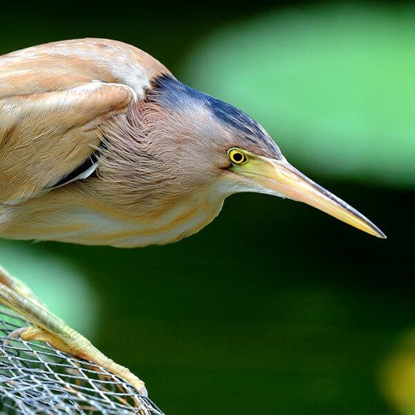
[[[252,155],[246,165],[235,166],[233,170],[250,177],[266,192],[275,192],[295,201],[301,201],[320,209],[335,218],[348,223],[378,238],[386,235],[369,219],[337,196],[325,190],[304,176],[288,161]]]

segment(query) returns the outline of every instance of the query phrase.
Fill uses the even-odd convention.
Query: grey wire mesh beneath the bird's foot
[[[129,383],[92,362],[41,342],[7,336],[28,322],[0,304],[1,414],[163,412]]]

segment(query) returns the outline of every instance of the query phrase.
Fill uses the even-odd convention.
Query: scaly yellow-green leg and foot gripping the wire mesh
[[[7,282],[10,282],[12,288]],[[23,295],[19,292],[21,287],[23,287]],[[35,324],[35,326],[19,329],[16,332],[21,339],[48,342],[55,349],[91,360],[96,365],[104,367],[104,369],[127,380],[140,394],[147,396],[147,389],[145,389],[142,380],[132,374],[127,367],[120,366],[107,358],[83,335],[80,335],[80,333],[67,326],[59,317],[50,313],[25,284],[5,273],[3,269],[0,270],[0,302],[13,308],[26,320]]]

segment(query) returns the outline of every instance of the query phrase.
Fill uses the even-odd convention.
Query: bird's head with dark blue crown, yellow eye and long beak
[[[157,78],[147,102],[154,105],[151,124],[170,141],[169,159],[184,180],[201,186],[216,183],[223,196],[257,192],[302,201],[385,238],[369,219],[288,163],[264,128],[246,113],[169,75]]]

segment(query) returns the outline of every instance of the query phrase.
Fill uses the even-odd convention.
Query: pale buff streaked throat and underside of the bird
[[[54,210],[44,208],[42,196],[8,206],[7,226],[0,227],[0,236],[120,248],[163,245],[198,232],[219,214],[223,205],[223,198],[201,201],[189,197],[154,212],[136,215],[114,211],[102,203],[92,205],[73,199],[67,203],[65,192],[54,192]],[[49,202],[51,195],[48,194]],[[27,214],[34,211],[35,216]]]

